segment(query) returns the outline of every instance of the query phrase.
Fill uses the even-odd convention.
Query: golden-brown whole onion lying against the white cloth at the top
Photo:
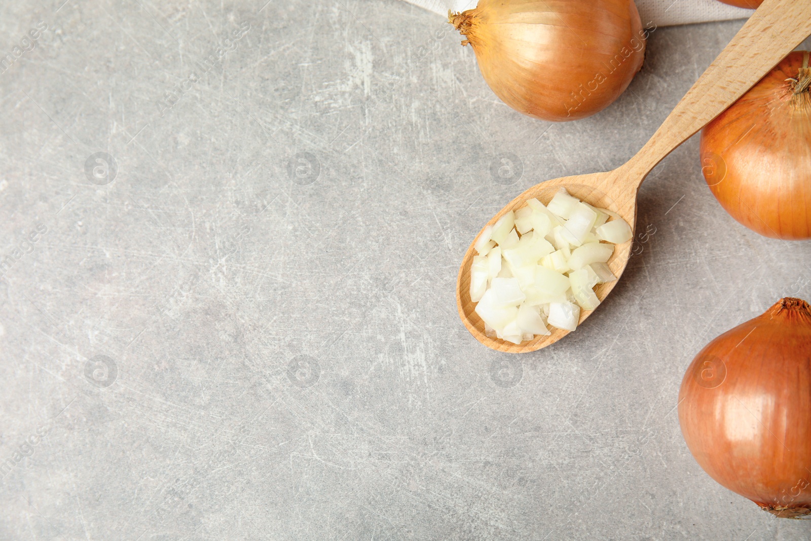
[[[642,68],[633,0],[480,0],[451,15],[504,103],[534,118],[586,118],[616,101]]]

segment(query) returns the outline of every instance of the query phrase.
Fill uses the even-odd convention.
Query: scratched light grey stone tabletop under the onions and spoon
[[[549,124],[404,2],[4,2],[0,539],[808,539],[680,434],[697,350],[811,297],[695,138],[577,333],[498,354],[454,298],[488,217],[620,165],[740,24],[657,29]]]

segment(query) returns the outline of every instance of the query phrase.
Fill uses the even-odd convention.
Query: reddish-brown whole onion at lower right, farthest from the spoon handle
[[[780,517],[811,513],[811,311],[780,299],[711,341],[679,393],[684,441],[710,477]]]

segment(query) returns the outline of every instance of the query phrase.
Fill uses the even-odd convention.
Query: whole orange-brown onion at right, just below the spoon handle
[[[771,238],[811,238],[811,93],[791,80],[794,52],[702,130],[702,172],[740,224]]]

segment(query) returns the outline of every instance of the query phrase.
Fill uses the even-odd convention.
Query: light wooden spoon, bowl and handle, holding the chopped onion
[[[526,200],[533,197],[547,204],[560,187],[565,187],[575,197],[619,214],[633,228],[637,221],[637,192],[650,170],[743,96],[809,34],[811,0],[766,0],[696,84],[693,84],[693,88],[676,105],[676,109],[673,109],[642,150],[625,165],[607,173],[581,174],[542,182],[510,201],[487,225],[495,224],[511,210],[523,207]],[[470,244],[459,268],[457,307],[462,323],[476,340],[493,350],[526,353],[554,344],[569,334],[569,331],[551,328],[550,336],[539,336],[534,340],[521,342],[520,345],[487,337],[484,322],[474,311],[476,303],[470,300],[470,266],[476,255],[474,243]],[[617,246],[608,261],[608,266],[616,277],[620,277],[628,264],[632,244],[633,238]],[[611,281],[601,284],[595,290],[601,302],[615,285],[616,281]],[[591,312],[582,310],[579,323],[590,316]]]

